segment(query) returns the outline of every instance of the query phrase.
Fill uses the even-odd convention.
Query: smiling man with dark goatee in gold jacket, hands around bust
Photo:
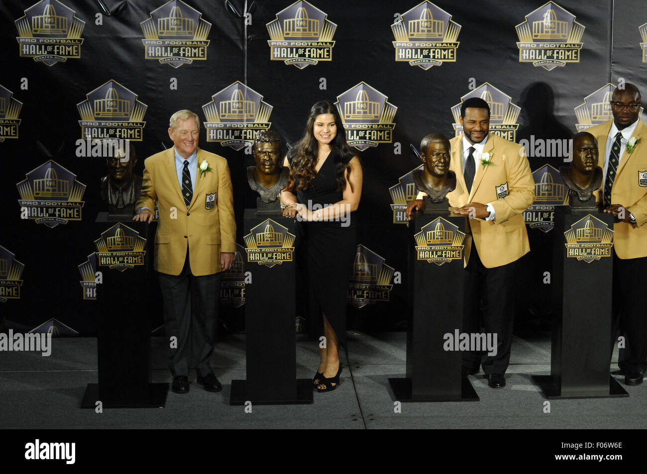
[[[485,332],[498,339],[494,356],[463,355],[463,375],[476,374],[482,365],[488,385],[499,388],[505,386],[510,362],[516,263],[530,251],[523,211],[534,201],[534,180],[523,147],[489,134],[489,124],[485,100],[469,98],[461,104],[464,132],[450,140],[456,189],[447,197],[455,213],[469,218],[463,332],[481,332],[483,299]],[[408,212],[421,203],[411,201]]]

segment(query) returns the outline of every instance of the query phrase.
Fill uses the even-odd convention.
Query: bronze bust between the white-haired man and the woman
[[[280,211],[281,201],[278,200],[278,197],[281,190],[287,185],[288,179],[287,168],[279,166],[281,137],[269,129],[259,131],[254,138],[252,153],[256,166],[247,168],[247,182],[249,187],[260,196],[257,200],[257,208],[259,211],[270,211],[271,207],[273,211]],[[272,206],[267,206],[267,204],[272,204]]]

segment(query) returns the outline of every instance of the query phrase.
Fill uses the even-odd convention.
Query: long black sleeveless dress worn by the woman
[[[336,190],[335,171],[331,152],[309,188],[297,190],[298,202],[316,212],[342,200],[343,191]],[[300,222],[300,233],[306,247],[311,318],[318,334],[323,336],[323,313],[339,345],[345,346],[346,293],[356,253],[355,213],[346,215],[345,221]]]

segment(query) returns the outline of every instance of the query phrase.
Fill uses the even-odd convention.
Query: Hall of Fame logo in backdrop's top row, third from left
[[[299,69],[319,61],[332,61],[336,29],[337,25],[316,6],[307,1],[294,2],[267,24],[270,59]]]

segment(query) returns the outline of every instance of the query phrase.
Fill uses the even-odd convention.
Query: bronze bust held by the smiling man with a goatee
[[[413,182],[426,193],[425,210],[446,210],[447,194],[456,188],[456,175],[450,171],[449,140],[442,133],[430,133],[420,142],[420,159],[424,169],[413,171]]]

